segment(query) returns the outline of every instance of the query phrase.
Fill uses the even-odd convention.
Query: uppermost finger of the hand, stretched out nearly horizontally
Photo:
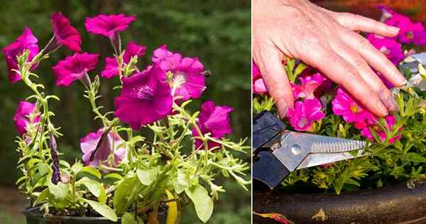
[[[376,33],[381,36],[393,37],[398,35],[399,28],[381,23],[373,18],[367,18],[351,13],[332,13],[332,16],[342,26],[352,31],[364,31],[367,33]]]

